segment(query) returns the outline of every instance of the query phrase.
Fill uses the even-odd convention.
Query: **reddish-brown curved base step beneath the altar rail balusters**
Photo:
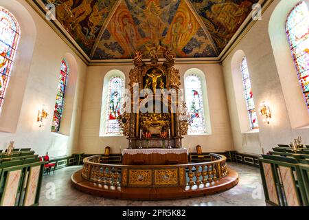
[[[221,179],[213,181],[208,186],[174,186],[160,188],[130,188],[121,186],[104,186],[88,181],[82,177],[82,170],[78,170],[71,177],[72,184],[78,190],[99,195],[111,199],[135,199],[135,200],[163,200],[163,199],[186,199],[212,195],[229,190],[238,184],[238,173],[228,170],[228,174]]]

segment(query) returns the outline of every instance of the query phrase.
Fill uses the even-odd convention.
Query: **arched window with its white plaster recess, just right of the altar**
[[[185,82],[185,102],[192,123],[188,135],[209,135],[211,134],[211,122],[205,74],[201,69],[191,68],[185,72],[183,78]],[[192,84],[191,86],[190,83],[195,85]],[[197,87],[196,83],[198,84]]]

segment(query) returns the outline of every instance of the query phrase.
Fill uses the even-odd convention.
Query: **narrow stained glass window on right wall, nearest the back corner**
[[[253,93],[251,89],[251,81],[249,76],[249,70],[247,65],[247,58],[244,56],[242,58],[242,63],[240,65],[240,71],[242,72],[242,85],[244,87],[244,98],[247,104],[247,110],[249,113],[249,122],[250,122],[250,129],[258,129],[258,118],[256,115],[254,100],[253,100]]]

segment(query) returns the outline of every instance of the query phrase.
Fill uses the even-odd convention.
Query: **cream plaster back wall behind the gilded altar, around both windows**
[[[232,150],[233,144],[222,67],[218,64],[175,65],[175,67],[181,73],[182,89],[183,75],[187,69],[192,67],[201,69],[205,73],[209,100],[211,135],[187,135],[183,139],[183,146],[187,148],[191,146],[192,151],[195,151],[197,144],[201,144],[203,151]],[[105,74],[112,69],[119,69],[124,72],[126,87],[128,87],[130,81],[128,73],[132,68],[133,66],[130,65],[88,67],[80,129],[79,151],[81,153],[102,153],[105,146],[111,146],[111,153],[119,153],[120,146],[122,149],[128,147],[126,137],[99,137],[100,112]]]

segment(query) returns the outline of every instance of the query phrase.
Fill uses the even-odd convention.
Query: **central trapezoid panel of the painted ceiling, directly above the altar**
[[[122,1],[102,34],[93,59],[150,58],[168,47],[176,57],[216,56],[211,41],[185,1]]]

